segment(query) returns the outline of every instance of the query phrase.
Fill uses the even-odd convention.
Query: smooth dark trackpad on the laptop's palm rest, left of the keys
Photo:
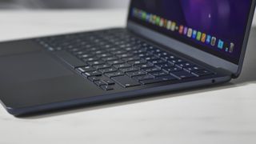
[[[43,52],[2,57],[0,67],[0,81],[6,83],[30,82],[73,74]]]

